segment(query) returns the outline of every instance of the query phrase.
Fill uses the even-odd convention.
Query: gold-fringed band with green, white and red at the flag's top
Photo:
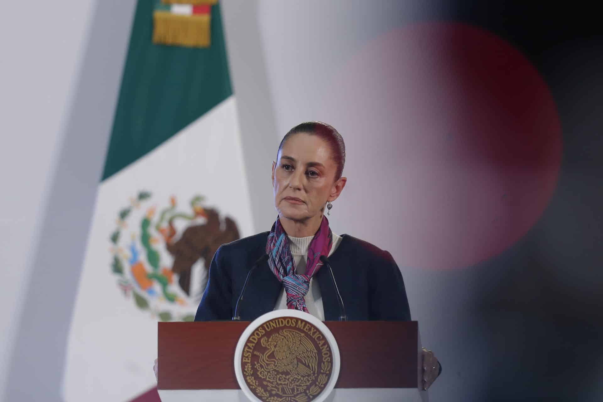
[[[153,13],[153,43],[207,48],[217,0],[162,0]]]

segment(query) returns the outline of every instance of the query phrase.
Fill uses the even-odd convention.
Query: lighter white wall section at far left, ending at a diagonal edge
[[[0,395],[6,386],[93,1],[36,7],[29,2],[10,2],[3,8],[0,281],[6,286],[0,311]]]

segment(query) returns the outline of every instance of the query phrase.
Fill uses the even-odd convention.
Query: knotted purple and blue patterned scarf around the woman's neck
[[[274,275],[285,287],[287,294],[287,307],[308,312],[305,296],[310,289],[310,279],[323,265],[320,256],[329,256],[333,244],[333,233],[329,228],[329,221],[323,216],[318,231],[308,247],[308,259],[306,260],[306,273],[301,275],[295,271],[295,263],[289,250],[287,234],[280,224],[280,219],[272,225],[266,243],[266,254],[268,254],[268,265]]]

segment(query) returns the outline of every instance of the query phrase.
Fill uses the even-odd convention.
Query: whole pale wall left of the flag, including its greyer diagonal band
[[[134,3],[2,5],[0,400],[60,400]]]

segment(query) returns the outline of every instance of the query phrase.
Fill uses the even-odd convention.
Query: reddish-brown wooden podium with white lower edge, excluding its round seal
[[[248,401],[234,354],[247,321],[159,322],[157,389],[162,402]],[[326,401],[427,402],[421,390],[417,321],[325,321],[341,370]]]

